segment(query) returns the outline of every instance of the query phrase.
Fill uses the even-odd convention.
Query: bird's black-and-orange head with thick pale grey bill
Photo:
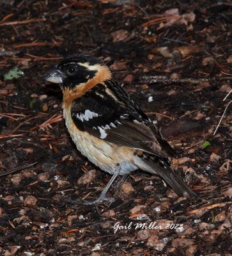
[[[63,59],[44,78],[51,83],[58,83],[63,91],[77,92],[86,86],[92,87],[111,79],[111,72],[97,58],[77,54]]]

